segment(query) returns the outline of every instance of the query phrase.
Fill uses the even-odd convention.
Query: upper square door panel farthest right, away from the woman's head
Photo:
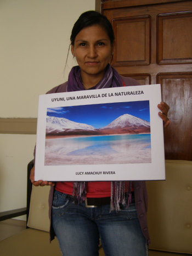
[[[157,16],[157,63],[192,63],[191,24],[192,11]]]

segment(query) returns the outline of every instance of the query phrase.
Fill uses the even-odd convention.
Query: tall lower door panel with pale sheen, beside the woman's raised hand
[[[162,100],[171,106],[172,124],[164,132],[166,158],[189,160],[192,155],[192,72],[158,74],[157,84],[162,87]]]

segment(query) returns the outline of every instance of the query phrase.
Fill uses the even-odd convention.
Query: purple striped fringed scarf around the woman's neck
[[[123,86],[121,76],[117,71],[108,65],[105,75],[101,81],[91,88],[102,89],[110,87],[120,87]],[[74,66],[69,73],[69,79],[67,82],[67,92],[82,91],[85,90],[83,87],[80,67]],[[128,192],[127,192],[128,191]],[[74,182],[73,196],[76,196],[77,202],[80,203],[84,201],[87,193],[87,182],[86,181],[76,181]],[[111,210],[120,210],[120,204],[127,204],[131,202],[131,181],[111,181]]]

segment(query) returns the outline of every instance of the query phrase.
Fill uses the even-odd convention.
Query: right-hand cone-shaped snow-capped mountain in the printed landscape
[[[106,125],[102,129],[117,129],[117,128],[125,128],[125,127],[140,127],[146,126],[150,127],[150,123],[146,120],[137,118],[136,116],[124,114],[116,118],[109,125]]]

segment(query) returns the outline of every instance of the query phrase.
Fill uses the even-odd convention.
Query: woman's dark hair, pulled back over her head
[[[89,10],[88,12],[84,12],[80,15],[74,27],[71,31],[71,44],[74,45],[75,37],[77,34],[84,29],[84,27],[93,26],[93,25],[100,25],[106,31],[110,38],[111,44],[114,42],[115,36],[114,31],[112,30],[112,26],[108,18],[103,14],[95,12],[94,10]]]

